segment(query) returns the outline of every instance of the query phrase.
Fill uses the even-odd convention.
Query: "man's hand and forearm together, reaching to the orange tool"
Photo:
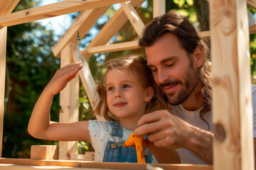
[[[212,164],[213,133],[190,125],[165,110],[143,115],[138,127],[134,134],[148,135],[156,147],[183,147]]]

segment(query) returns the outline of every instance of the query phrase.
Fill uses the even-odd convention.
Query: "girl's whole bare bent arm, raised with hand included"
[[[87,140],[90,141],[88,122],[55,123],[50,121],[50,106],[53,96],[65,88],[70,80],[82,69],[81,62],[68,64],[58,69],[41,96],[38,98],[28,123],[28,132],[43,140]]]

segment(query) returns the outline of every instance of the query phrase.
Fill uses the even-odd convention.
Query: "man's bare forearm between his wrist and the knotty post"
[[[191,130],[186,149],[197,154],[208,164],[213,164],[213,133],[196,127],[192,127]]]

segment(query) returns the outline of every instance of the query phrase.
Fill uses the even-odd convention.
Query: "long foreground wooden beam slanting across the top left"
[[[92,8],[100,8],[102,6],[110,6],[112,4],[121,3],[127,0],[65,0],[45,6],[29,8],[23,11],[6,14],[0,16],[0,26],[8,27],[21,23],[28,23],[54,16],[61,16],[68,13],[85,11]]]

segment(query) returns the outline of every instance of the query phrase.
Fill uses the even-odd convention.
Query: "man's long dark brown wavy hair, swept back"
[[[139,40],[139,45],[141,47],[150,47],[166,33],[172,33],[177,36],[181,47],[186,50],[191,64],[193,64],[191,54],[196,47],[199,45],[203,50],[203,64],[198,69],[198,77],[203,84],[203,88],[198,94],[203,96],[203,109],[200,112],[200,118],[210,127],[208,121],[204,118],[205,114],[211,108],[213,86],[208,45],[199,37],[191,22],[176,11],[169,11],[164,16],[156,17],[148,23],[144,28],[142,38]]]

